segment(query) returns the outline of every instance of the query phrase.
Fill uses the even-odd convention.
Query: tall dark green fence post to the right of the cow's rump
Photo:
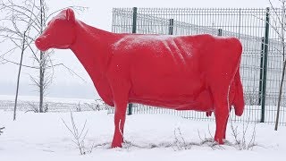
[[[267,55],[268,55],[268,38],[269,38],[269,7],[266,8],[265,21],[265,52],[263,65],[263,85],[262,85],[262,102],[261,102],[261,120],[260,123],[265,123],[265,101],[266,101],[266,79],[267,79]]]

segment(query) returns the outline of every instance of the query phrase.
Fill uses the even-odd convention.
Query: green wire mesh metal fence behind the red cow
[[[279,20],[266,9],[198,9],[198,8],[114,8],[113,32],[194,35],[208,33],[240,38],[243,54],[240,73],[246,111],[234,121],[274,123],[279,85],[282,78],[282,39]],[[277,33],[278,32],[278,33]],[[286,125],[285,86],[282,93],[280,124]],[[113,111],[111,111],[113,113]],[[133,105],[131,114],[178,114],[186,118],[213,120],[205,113],[175,111]]]

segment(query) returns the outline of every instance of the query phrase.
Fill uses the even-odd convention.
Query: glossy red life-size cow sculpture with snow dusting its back
[[[219,144],[231,106],[235,114],[243,113],[237,38],[116,34],[76,20],[67,9],[49,21],[36,46],[42,51],[70,48],[100,97],[115,106],[112,148],[122,147],[129,103],[214,112]]]

